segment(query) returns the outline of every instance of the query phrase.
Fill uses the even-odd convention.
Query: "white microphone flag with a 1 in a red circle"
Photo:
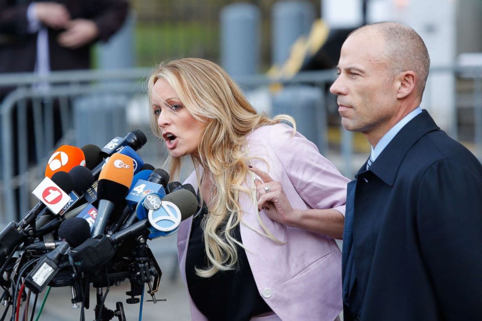
[[[70,196],[48,177],[35,187],[32,195],[44,203],[54,214],[58,214],[70,201]]]

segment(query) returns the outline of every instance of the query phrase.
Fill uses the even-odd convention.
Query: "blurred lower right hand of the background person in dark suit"
[[[66,31],[58,35],[57,41],[63,47],[76,49],[92,42],[98,35],[99,28],[94,21],[78,18],[67,24]]]

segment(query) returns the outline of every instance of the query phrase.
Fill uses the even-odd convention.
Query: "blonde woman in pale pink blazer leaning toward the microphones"
[[[297,133],[258,114],[216,64],[163,63],[149,79],[153,132],[195,171],[200,210],[177,233],[192,320],[327,320],[342,310],[348,180]],[[286,123],[290,123],[290,127]]]

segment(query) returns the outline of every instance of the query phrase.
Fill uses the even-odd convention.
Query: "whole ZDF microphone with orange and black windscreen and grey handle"
[[[110,157],[102,169],[97,186],[99,211],[91,237],[104,233],[107,221],[116,204],[120,204],[127,195],[134,176],[133,166],[132,158],[117,153]]]

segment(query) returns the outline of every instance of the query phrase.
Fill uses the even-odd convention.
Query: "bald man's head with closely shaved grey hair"
[[[422,99],[430,58],[420,36],[395,22],[363,26],[343,44],[338,96],[342,124],[362,132],[372,145]]]

